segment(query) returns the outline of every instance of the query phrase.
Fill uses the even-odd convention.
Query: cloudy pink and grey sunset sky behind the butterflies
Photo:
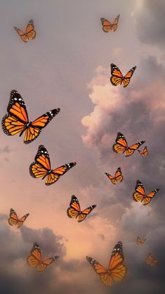
[[[164,13],[163,0],[0,0],[0,115],[11,90],[24,98],[30,120],[46,111],[60,113],[32,143],[1,129],[0,290],[5,294],[164,293]],[[100,18],[114,20],[105,34]],[[34,20],[37,37],[27,44],[13,29]],[[124,74],[137,66],[128,87],[113,87],[110,64]],[[112,151],[117,132],[128,145],[146,141],[149,155],[129,158]],[[55,168],[77,162],[57,183],[46,186],[29,175],[39,145]],[[143,146],[140,148],[143,149]],[[121,167],[124,181],[114,186],[105,172]],[[133,201],[136,181],[149,205]],[[96,204],[84,222],[67,217],[71,196],[81,208]],[[13,208],[29,213],[21,229],[8,225]],[[137,246],[136,238],[146,238]],[[86,255],[107,267],[114,244],[122,241],[126,280],[112,288],[100,282]],[[44,257],[60,255],[46,271],[26,264],[34,242]],[[148,253],[158,260],[150,269]]]

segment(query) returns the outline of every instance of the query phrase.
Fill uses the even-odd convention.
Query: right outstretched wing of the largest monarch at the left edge
[[[53,117],[55,117],[55,115],[59,112],[60,108],[50,110],[47,113],[44,113],[44,115],[38,117],[37,120],[34,120],[34,122],[31,122],[29,127],[25,130],[24,143],[28,144],[37,139],[41,130],[44,129],[44,127],[46,127],[46,125],[51,122]]]

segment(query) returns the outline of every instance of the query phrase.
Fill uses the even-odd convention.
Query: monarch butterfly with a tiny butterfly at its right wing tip
[[[132,155],[145,141],[140,141],[128,147],[126,138],[120,132],[117,133],[117,139],[112,146],[112,149],[116,153],[124,153],[125,156]]]

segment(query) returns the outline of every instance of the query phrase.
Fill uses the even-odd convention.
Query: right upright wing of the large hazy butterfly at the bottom
[[[112,250],[109,271],[112,281],[122,281],[126,276],[127,267],[124,264],[123,245],[121,241],[117,242]]]

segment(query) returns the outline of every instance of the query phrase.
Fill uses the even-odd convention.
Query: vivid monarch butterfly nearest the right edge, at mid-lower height
[[[155,196],[155,194],[159,191],[159,188],[154,189],[152,192],[149,194],[145,194],[145,188],[141,181],[136,181],[136,191],[133,193],[133,199],[138,202],[141,201],[143,205],[147,205],[150,203],[152,198]]]

